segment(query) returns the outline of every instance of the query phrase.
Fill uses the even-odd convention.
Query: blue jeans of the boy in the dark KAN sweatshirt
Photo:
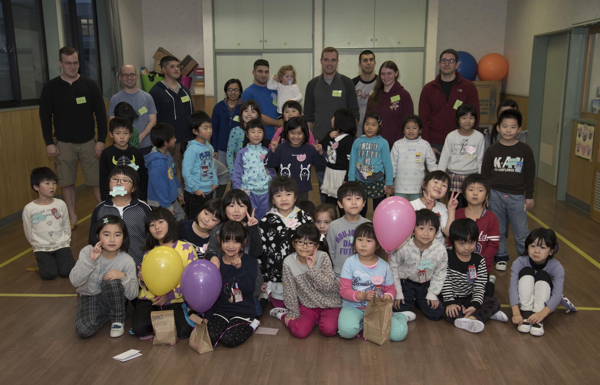
[[[494,256],[494,261],[508,261],[506,234],[508,223],[511,224],[515,237],[517,256],[525,254],[525,240],[529,235],[527,226],[527,211],[525,211],[525,196],[512,195],[496,190],[490,190],[490,211],[496,214],[500,228],[500,247]]]

